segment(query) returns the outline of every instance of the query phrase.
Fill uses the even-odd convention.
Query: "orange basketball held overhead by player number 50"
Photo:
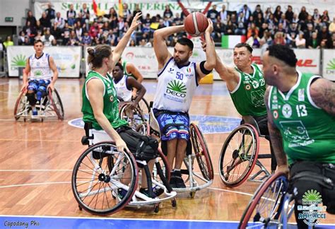
[[[204,13],[190,13],[184,20],[184,28],[189,35],[199,37],[205,33],[208,27],[208,20]]]

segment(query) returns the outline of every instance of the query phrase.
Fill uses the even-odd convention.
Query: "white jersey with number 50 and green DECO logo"
[[[188,112],[194,91],[198,86],[196,63],[178,67],[171,57],[158,72],[158,86],[153,108],[172,112]]]

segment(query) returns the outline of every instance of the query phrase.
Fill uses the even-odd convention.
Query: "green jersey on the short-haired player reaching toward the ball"
[[[265,81],[261,69],[257,64],[252,64],[254,74],[246,74],[235,68],[240,74],[237,87],[230,92],[237,112],[241,115],[262,116],[266,114],[264,94]]]

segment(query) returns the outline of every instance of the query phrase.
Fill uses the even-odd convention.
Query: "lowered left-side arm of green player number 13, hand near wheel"
[[[278,168],[276,172],[284,172],[288,175],[288,162],[286,158],[286,154],[283,149],[283,139],[281,137],[281,131],[274,124],[274,117],[271,114],[271,110],[269,107],[269,91],[270,87],[266,88],[266,92],[264,95],[264,102],[266,104],[266,110],[268,112],[268,129],[271,138],[271,146],[274,149],[274,155],[276,155]]]

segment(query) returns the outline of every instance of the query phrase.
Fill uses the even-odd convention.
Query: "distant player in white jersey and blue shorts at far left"
[[[54,90],[54,83],[58,78],[58,71],[54,59],[43,52],[44,45],[41,40],[34,42],[35,55],[30,56],[23,71],[23,88],[28,89],[26,96],[33,110],[37,114],[36,102],[47,95],[47,88]],[[30,78],[28,79],[28,74]]]

